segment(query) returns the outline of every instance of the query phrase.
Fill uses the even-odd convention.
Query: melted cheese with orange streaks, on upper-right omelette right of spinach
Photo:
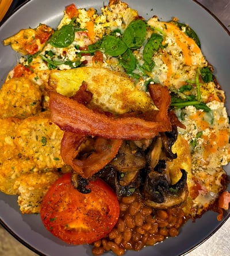
[[[162,31],[166,45],[153,56],[155,67],[151,76],[156,82],[178,88],[194,79],[197,67],[207,65],[201,49],[177,26],[157,18],[148,20],[148,25]]]

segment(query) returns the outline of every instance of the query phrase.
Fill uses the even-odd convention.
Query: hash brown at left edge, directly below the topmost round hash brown
[[[18,155],[18,150],[14,144],[18,125],[21,123],[20,119],[6,118],[0,119],[0,164],[8,159],[13,159]]]

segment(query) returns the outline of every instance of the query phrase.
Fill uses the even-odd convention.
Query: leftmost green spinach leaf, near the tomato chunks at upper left
[[[56,30],[51,38],[49,43],[53,47],[64,48],[70,45],[74,41],[75,29],[73,25],[74,20],[70,24],[62,26],[59,30]]]

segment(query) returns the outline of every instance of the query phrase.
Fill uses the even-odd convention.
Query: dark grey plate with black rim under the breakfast
[[[63,9],[72,2],[77,7],[94,6],[100,10],[102,0],[30,0],[17,10],[0,27],[0,40],[13,35],[22,28],[35,28],[40,22],[56,28],[63,16]],[[160,20],[171,20],[178,17],[196,30],[202,43],[202,51],[215,68],[214,74],[226,91],[227,106],[230,109],[230,37],[227,30],[206,10],[192,0],[130,0],[131,7],[139,10],[139,14],[150,18],[156,14]],[[17,63],[17,54],[9,46],[0,44],[0,84]],[[229,166],[225,168],[230,174]],[[230,186],[228,187],[230,190]],[[128,251],[125,255],[138,256],[176,256],[186,253],[212,235],[225,220],[230,212],[225,212],[224,219],[217,221],[217,213],[207,212],[195,223],[189,221],[181,228],[177,238],[169,238],[163,243],[145,247],[140,252]],[[22,215],[18,209],[17,197],[0,193],[0,219],[3,226],[20,242],[41,255],[91,255],[90,246],[68,246],[52,236],[40,221],[39,215]],[[113,255],[106,253],[106,255]]]

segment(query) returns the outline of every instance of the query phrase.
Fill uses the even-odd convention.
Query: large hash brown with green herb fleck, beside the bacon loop
[[[24,119],[15,139],[19,152],[33,159],[39,168],[60,168],[63,131],[49,120],[48,112]]]

